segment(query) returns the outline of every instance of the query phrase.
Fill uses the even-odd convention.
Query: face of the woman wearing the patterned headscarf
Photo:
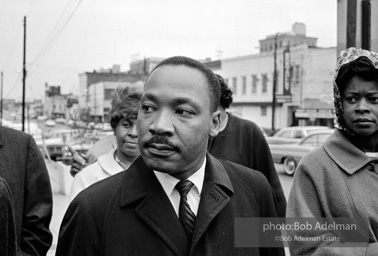
[[[371,136],[378,131],[378,83],[358,76],[347,83],[342,95],[344,119],[350,131]]]

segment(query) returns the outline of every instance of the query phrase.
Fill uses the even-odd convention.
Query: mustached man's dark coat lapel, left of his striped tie
[[[141,157],[125,173],[120,206],[122,208],[138,200],[136,214],[176,255],[187,255],[190,241],[155,174]]]

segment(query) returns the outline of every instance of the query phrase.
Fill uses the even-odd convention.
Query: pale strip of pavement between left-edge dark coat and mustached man
[[[69,205],[69,192],[73,178],[69,172],[69,166],[60,162],[49,162],[48,160],[46,161],[46,166],[50,175],[51,189],[53,191],[53,215],[50,223],[53,243],[47,256],[53,256],[55,255],[58,242],[60,224]]]

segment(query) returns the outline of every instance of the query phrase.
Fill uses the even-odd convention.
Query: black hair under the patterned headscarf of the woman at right
[[[361,56],[341,66],[335,80],[341,97],[344,94],[346,85],[355,76],[365,81],[378,82],[378,69],[374,67],[373,62],[366,56]]]

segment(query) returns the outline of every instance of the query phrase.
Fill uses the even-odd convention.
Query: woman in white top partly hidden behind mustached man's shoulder
[[[98,158],[78,173],[72,183],[70,199],[91,184],[129,168],[139,156],[136,118],[142,95],[142,85],[121,85],[113,91],[110,125],[117,147]]]

